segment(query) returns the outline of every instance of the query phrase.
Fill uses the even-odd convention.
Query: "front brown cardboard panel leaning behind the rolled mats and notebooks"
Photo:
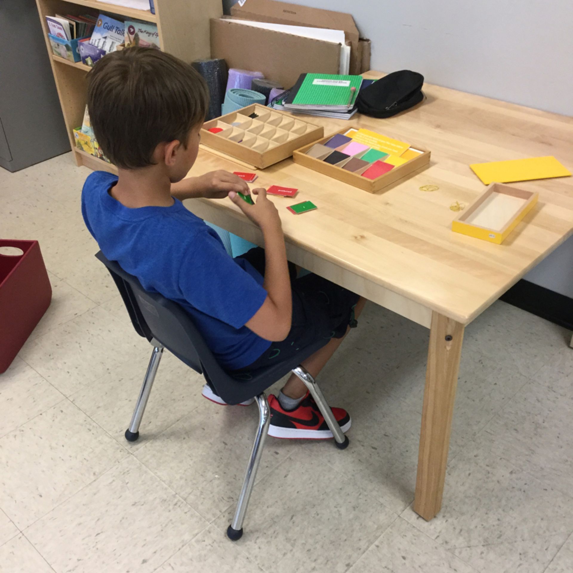
[[[229,68],[262,72],[291,88],[304,72],[337,74],[340,45],[211,19],[211,57],[223,58]]]

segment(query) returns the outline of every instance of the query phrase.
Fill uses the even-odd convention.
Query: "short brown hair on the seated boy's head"
[[[88,111],[101,150],[124,169],[152,165],[159,143],[187,146],[205,120],[209,91],[190,64],[151,48],[101,58],[88,73]]]

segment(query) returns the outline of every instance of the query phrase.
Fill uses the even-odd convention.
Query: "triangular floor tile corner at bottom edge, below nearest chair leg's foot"
[[[156,573],[264,573],[254,561],[229,541],[226,535],[210,525],[193,541],[168,559]]]

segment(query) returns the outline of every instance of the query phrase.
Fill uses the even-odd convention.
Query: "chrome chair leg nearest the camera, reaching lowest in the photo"
[[[266,434],[269,431],[270,408],[266,394],[262,392],[256,397],[256,400],[259,412],[257,435],[254,438],[253,449],[247,466],[241,495],[237,503],[235,516],[227,528],[227,536],[231,541],[237,541],[241,539],[243,535],[243,521],[245,520],[247,506],[249,505],[250,494],[253,491],[254,480],[257,477],[258,465],[261,462],[261,454],[265,446]]]

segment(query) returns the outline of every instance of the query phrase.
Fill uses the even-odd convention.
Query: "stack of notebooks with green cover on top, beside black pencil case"
[[[303,73],[287,92],[270,102],[270,107],[281,111],[307,113],[333,119],[350,119],[356,113],[356,99],[360,89],[374,83],[362,76]]]

